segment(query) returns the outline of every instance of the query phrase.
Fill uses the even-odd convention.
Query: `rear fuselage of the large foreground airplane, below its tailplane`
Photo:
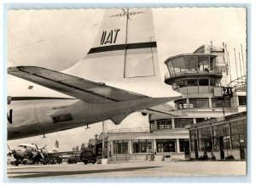
[[[13,98],[8,105],[8,139],[82,127],[115,116],[122,118],[125,114],[142,110],[145,104],[150,107],[156,101],[164,103],[166,99],[145,98],[139,102],[134,99],[90,104],[79,99]]]

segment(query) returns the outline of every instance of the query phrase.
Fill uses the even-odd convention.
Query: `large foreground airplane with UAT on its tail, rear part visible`
[[[149,8],[106,10],[92,48],[67,70],[15,66],[8,74],[20,78],[8,97],[8,139],[99,121],[118,125],[137,111],[183,116],[166,104],[182,96],[161,81]]]

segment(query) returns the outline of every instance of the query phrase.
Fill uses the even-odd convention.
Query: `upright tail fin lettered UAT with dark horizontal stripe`
[[[160,79],[152,9],[106,10],[90,51],[64,73],[95,82],[113,82],[108,83],[113,87],[119,87],[114,82],[126,82],[130,91],[134,82],[150,82],[151,87],[154,87],[154,82],[164,85]],[[170,90],[170,87],[166,89]]]

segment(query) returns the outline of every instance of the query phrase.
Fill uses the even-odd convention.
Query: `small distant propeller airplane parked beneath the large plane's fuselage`
[[[19,166],[20,163],[26,164],[27,160],[36,163],[38,161],[43,164],[47,163],[61,163],[60,155],[66,155],[68,152],[59,152],[59,142],[55,140],[55,146],[52,151],[48,151],[44,147],[38,147],[37,144],[19,144],[15,149],[9,149],[8,155],[12,156],[15,166]]]

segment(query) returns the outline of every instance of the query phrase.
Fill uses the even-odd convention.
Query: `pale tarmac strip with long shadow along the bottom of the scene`
[[[246,175],[246,161],[143,161],[7,166],[9,178],[136,178]]]

